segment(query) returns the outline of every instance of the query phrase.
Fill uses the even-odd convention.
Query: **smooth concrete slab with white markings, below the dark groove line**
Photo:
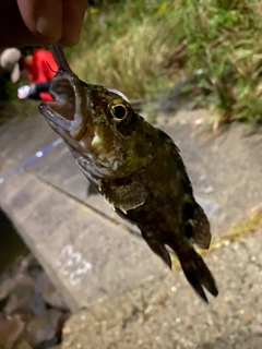
[[[0,185],[0,204],[73,311],[164,273],[139,238],[21,171]]]

